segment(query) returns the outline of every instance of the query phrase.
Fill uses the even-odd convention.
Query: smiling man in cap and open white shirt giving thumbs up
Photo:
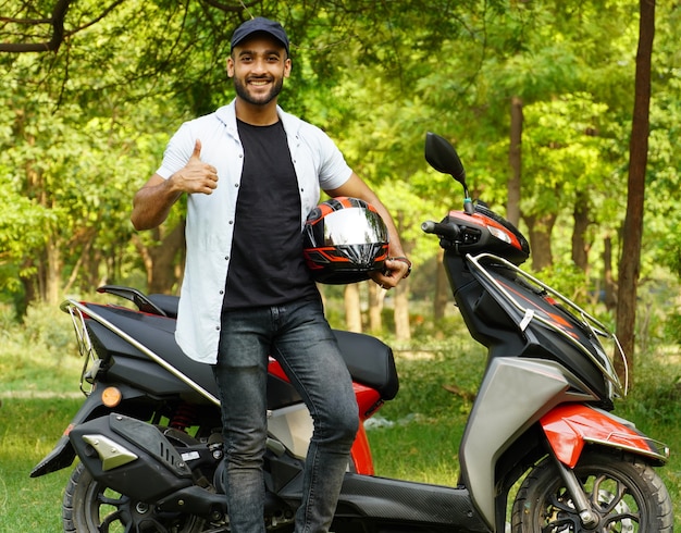
[[[392,288],[409,273],[395,224],[376,195],[319,128],[277,107],[292,61],[284,28],[258,17],[232,37],[227,74],[236,98],[187,122],[158,172],[135,195],[137,230],[162,223],[188,195],[187,258],[176,339],[213,365],[225,439],[234,533],[262,533],[268,356],[275,357],[314,421],[297,533],[326,532],[358,429],[351,380],[302,258],[301,230],[319,202],[349,196],[372,203],[391,237]]]

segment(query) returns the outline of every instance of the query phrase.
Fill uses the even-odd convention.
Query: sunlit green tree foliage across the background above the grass
[[[17,15],[28,5],[8,4]],[[26,14],[35,18],[40,9]],[[425,132],[456,145],[475,196],[503,212],[511,97],[522,99],[524,112],[521,208],[558,216],[555,268],[571,269],[569,228],[579,202],[591,221],[589,283],[604,271],[597,251],[605,237],[617,256],[634,3],[265,0],[249,10],[168,1],[108,10],[77,0],[58,53],[0,57],[3,300],[54,305],[60,292],[144,277],[138,250],[158,245],[160,235],[133,237],[132,196],[182,121],[232,98],[224,75],[230,36],[250,14],[284,23],[294,70],[283,107],[327,131],[379,190],[416,271],[437,252],[435,239],[422,238],[420,223],[461,204],[458,185],[423,160]],[[680,270],[678,232],[670,228],[681,219],[678,202],[669,201],[681,186],[679,16],[671,4],[658,7],[644,278],[657,275],[657,264]],[[173,210],[166,226],[181,216],[182,209]]]

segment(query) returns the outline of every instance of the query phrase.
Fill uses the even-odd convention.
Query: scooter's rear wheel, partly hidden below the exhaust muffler
[[[134,501],[92,479],[83,464],[75,468],[66,485],[62,520],[67,533],[199,533],[205,525],[198,517],[161,515],[153,506]]]

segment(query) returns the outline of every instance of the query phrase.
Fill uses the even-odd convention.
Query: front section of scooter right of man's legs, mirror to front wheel
[[[471,200],[446,139],[429,133],[425,159],[463,188],[462,211],[421,228],[439,238],[458,310],[488,354],[459,446],[460,479],[443,487],[348,474],[337,516],[366,533],[671,533],[671,499],[654,470],[668,447],[610,413],[628,388],[602,344],[626,364],[617,337],[519,268],[527,239]]]

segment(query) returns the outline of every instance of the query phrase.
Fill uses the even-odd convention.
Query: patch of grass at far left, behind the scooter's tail
[[[29,478],[83,402],[83,362],[59,310],[29,310],[17,326],[0,309],[0,533],[62,529],[61,501],[71,469]]]

